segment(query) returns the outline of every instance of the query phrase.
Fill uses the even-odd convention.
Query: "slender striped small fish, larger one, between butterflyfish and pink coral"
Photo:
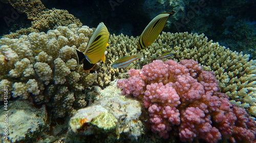
[[[134,61],[143,58],[143,55],[141,53],[137,53],[135,55],[130,56],[123,56],[122,58],[116,60],[113,64],[113,68],[123,68],[126,66],[129,66]]]

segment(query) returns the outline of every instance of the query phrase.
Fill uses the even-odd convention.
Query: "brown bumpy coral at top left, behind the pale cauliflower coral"
[[[57,26],[68,26],[69,24],[77,24],[82,26],[79,19],[69,14],[67,10],[47,9],[40,0],[36,1],[4,1],[11,4],[19,12],[26,13],[31,21],[31,27],[22,28],[15,33],[5,35],[7,38],[18,38],[21,35],[26,35],[31,32],[47,32],[48,30],[55,29]]]

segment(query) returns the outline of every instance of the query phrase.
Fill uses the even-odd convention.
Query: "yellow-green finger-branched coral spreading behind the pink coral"
[[[137,53],[137,39],[122,34],[112,35],[110,44],[113,46],[106,49],[106,67],[102,67],[111,75],[108,79],[123,78],[125,76],[120,76],[119,73],[127,72],[130,68],[140,69],[162,53],[170,51],[175,54],[172,58],[175,61],[194,59],[204,70],[214,71],[220,82],[221,91],[230,97],[232,103],[246,108],[250,115],[256,117],[256,61],[249,60],[250,55],[231,51],[212,40],[208,41],[203,34],[163,32],[151,46],[141,51],[144,59],[135,61],[125,68],[113,69],[111,64],[115,60]]]

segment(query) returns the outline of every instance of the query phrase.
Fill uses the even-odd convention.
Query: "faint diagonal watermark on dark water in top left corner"
[[[19,11],[19,10],[21,10],[21,11]],[[4,17],[4,20],[5,20],[5,23],[6,23],[7,27],[10,26],[11,22],[14,22],[16,19],[18,19],[19,16],[20,16],[19,14],[22,14],[23,13],[22,11],[24,11],[24,10],[25,10],[24,7],[18,7],[17,10],[12,8],[11,9],[11,11],[12,11],[11,15],[9,17],[8,16]]]

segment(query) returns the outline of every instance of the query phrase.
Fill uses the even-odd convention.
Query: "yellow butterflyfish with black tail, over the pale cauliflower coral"
[[[100,59],[105,63],[105,50],[109,46],[110,33],[103,22],[99,23],[84,52],[76,50],[78,63],[83,60],[83,70],[90,71]]]

